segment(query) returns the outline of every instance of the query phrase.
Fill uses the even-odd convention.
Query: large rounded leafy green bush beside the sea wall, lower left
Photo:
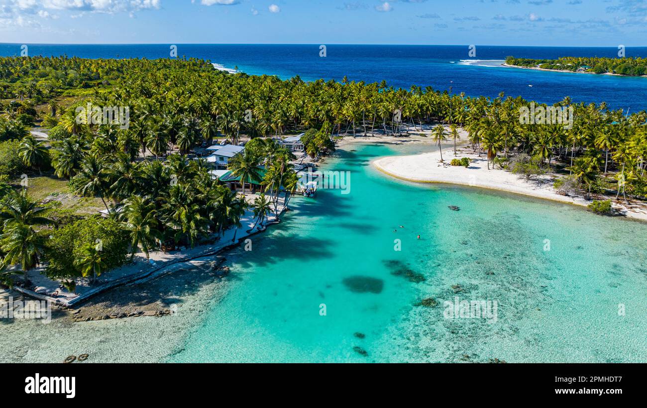
[[[52,231],[45,250],[47,276],[54,279],[80,276],[74,268],[74,259],[81,254],[83,246],[94,245],[99,242],[97,240],[101,242],[108,270],[126,263],[129,246],[127,231],[115,220],[95,216]]]

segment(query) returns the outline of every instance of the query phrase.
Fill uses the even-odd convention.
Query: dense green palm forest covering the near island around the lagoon
[[[394,89],[386,82],[282,81],[228,74],[195,59],[0,58],[0,81],[0,100],[5,101],[0,106],[0,156],[7,160],[0,172],[5,183],[23,171],[51,166],[56,177],[69,180],[76,195],[102,200],[126,231],[131,253],[139,248],[148,254],[162,244],[195,245],[210,233],[222,236],[240,225],[248,206],[254,207],[257,223],[276,211],[280,189],[296,188],[290,164],[294,156],[263,136],[305,132],[306,152],[316,157],[334,149],[333,140],[341,134],[402,135],[432,124],[433,140],[453,139],[455,144],[464,127],[474,149],[487,155],[488,168],[498,164],[531,179],[558,162],[569,173],[560,182],[565,194],[589,195],[611,187],[617,195],[647,195],[647,113],[626,116],[605,103],[584,105],[565,98],[558,106],[575,111],[573,127],[567,129],[522,124],[520,108],[529,102],[503,94],[467,98],[430,87]],[[129,126],[76,120],[76,107],[87,103],[129,107]],[[38,114],[43,106],[45,113]],[[50,146],[27,136],[31,119],[21,114],[37,121],[47,117]],[[265,195],[254,204],[213,180],[203,160],[185,156],[203,141],[224,136],[237,143],[243,135],[252,140],[230,170],[265,186]],[[259,166],[265,166],[263,172]],[[615,178],[611,186],[610,177]],[[5,195],[3,208],[18,196]],[[0,255],[5,264],[33,268],[43,253],[45,258],[52,253],[52,242],[40,235],[52,235],[47,230],[52,226],[45,220],[9,218],[3,223]],[[52,237],[68,231],[67,226],[58,228],[63,231]],[[73,260],[59,261],[72,262],[69,276],[118,264],[93,252],[94,241],[84,241],[74,241]],[[57,276],[61,271],[56,263],[49,269]]]

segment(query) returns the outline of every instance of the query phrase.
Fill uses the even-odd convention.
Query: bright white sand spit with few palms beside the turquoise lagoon
[[[459,184],[478,188],[496,189],[537,197],[540,199],[567,202],[578,206],[587,206],[590,201],[582,197],[567,197],[560,195],[553,188],[551,176],[547,175],[539,180],[527,182],[525,179],[502,169],[487,169],[487,158],[480,157],[472,152],[470,147],[465,145],[458,149],[458,158],[468,157],[472,159],[470,167],[450,166],[449,162],[454,158],[453,149],[444,148],[444,164],[440,161],[441,155],[438,151],[423,153],[412,156],[389,156],[373,160],[373,166],[382,173],[386,173],[402,180],[424,183],[447,183]],[[631,203],[626,206],[624,202],[614,202],[613,207],[620,213],[632,219],[647,221],[647,206],[639,203]]]

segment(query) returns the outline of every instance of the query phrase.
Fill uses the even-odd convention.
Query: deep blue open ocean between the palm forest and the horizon
[[[0,44],[1,56],[17,56],[20,44]],[[467,96],[522,96],[554,103],[570,96],[574,102],[607,102],[612,109],[647,110],[647,78],[545,72],[507,67],[468,65],[465,60],[502,60],[507,56],[558,58],[560,56],[617,57],[615,47],[501,47],[476,46],[476,56],[458,45],[207,45],[178,44],[177,54],[208,59],[225,69],[248,74],[271,74],[287,79],[300,76],[313,81],[380,82],[409,89],[431,86]],[[170,45],[28,45],[30,56],[83,58],[168,58]],[[647,56],[647,47],[628,47],[626,56]],[[530,87],[529,85],[532,85]]]

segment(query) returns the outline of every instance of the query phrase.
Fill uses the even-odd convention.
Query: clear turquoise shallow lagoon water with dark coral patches
[[[351,193],[294,199],[229,255],[230,290],[168,361],[647,361],[646,224],[392,180],[369,163],[391,147],[351,149],[325,165]],[[496,323],[445,318],[456,296],[496,301]]]

